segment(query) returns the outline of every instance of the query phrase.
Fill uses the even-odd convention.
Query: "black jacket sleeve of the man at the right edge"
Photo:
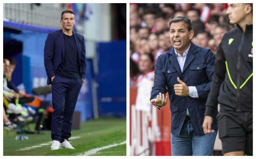
[[[225,79],[226,68],[225,68],[225,55],[223,49],[220,45],[217,54],[216,60],[214,63],[214,74],[213,81],[211,85],[211,91],[208,95],[206,101],[206,110],[204,115],[209,115],[213,117],[214,113],[218,112],[218,96],[220,92],[221,83]]]

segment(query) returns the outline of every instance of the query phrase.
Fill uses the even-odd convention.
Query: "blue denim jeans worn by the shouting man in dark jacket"
[[[180,136],[171,134],[172,156],[211,156],[217,131],[195,136],[191,120],[183,123]]]

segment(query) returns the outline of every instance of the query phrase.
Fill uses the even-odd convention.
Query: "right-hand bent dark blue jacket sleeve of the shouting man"
[[[210,89],[211,89],[211,81],[213,79],[214,72],[214,54],[209,49],[205,54],[205,63],[206,63],[206,76],[209,80],[208,83],[204,83],[202,85],[197,85],[195,88],[197,89],[198,98],[207,98]]]

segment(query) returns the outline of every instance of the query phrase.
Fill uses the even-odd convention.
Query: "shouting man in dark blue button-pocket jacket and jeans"
[[[217,125],[214,121],[212,133],[204,135],[202,123],[214,71],[214,54],[190,42],[194,31],[189,18],[175,17],[169,27],[174,48],[157,58],[150,100],[161,108],[166,105],[168,91],[173,156],[210,156]]]

